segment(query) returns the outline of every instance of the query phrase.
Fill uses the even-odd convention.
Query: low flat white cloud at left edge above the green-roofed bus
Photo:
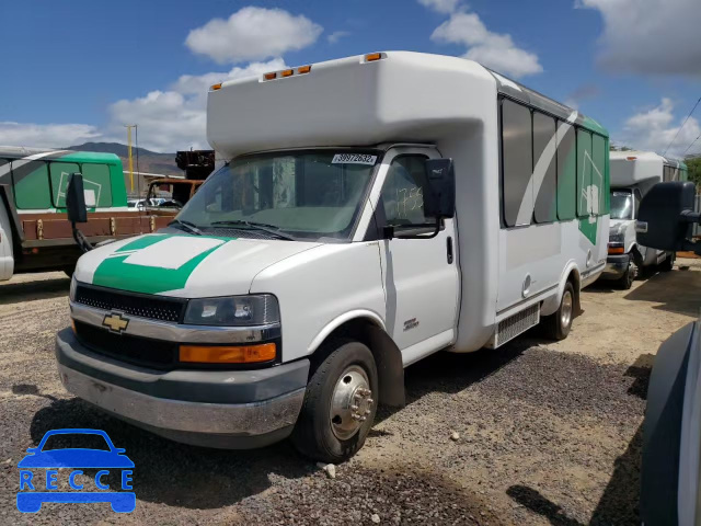
[[[27,124],[0,122],[0,145],[64,148],[97,140],[101,133],[88,124]]]

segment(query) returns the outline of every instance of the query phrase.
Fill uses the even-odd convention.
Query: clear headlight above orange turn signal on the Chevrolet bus
[[[193,325],[264,325],[280,321],[277,298],[271,294],[191,299],[184,322]]]

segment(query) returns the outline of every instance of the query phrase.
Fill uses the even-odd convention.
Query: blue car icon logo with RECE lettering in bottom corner
[[[84,438],[89,439],[85,441]],[[70,443],[89,442],[96,447],[71,447]],[[60,446],[69,443],[68,447]],[[114,446],[110,436],[101,430],[66,428],[48,431],[37,447],[27,449],[20,460],[20,491],[16,495],[18,510],[36,513],[42,504],[97,503],[106,502],[117,513],[129,513],[136,507],[136,494],[131,490],[134,462],[124,455],[125,449]],[[69,468],[66,477],[71,490],[58,491],[58,468]],[[94,477],[81,468],[99,469]],[[46,470],[42,476],[33,470]],[[111,470],[120,470],[120,489],[114,491],[105,480]],[[61,472],[62,477],[65,472]],[[35,477],[37,476],[37,477]],[[94,489],[91,488],[94,483]],[[42,488],[45,485],[45,488]]]

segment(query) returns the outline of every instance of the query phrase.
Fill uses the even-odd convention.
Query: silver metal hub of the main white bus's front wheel
[[[372,391],[365,370],[352,365],[338,377],[331,399],[331,428],[341,441],[355,435],[372,414]]]

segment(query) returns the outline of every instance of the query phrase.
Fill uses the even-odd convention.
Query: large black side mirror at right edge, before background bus
[[[657,183],[643,197],[637,213],[637,241],[657,250],[682,250],[691,239],[696,186],[691,182]]]

